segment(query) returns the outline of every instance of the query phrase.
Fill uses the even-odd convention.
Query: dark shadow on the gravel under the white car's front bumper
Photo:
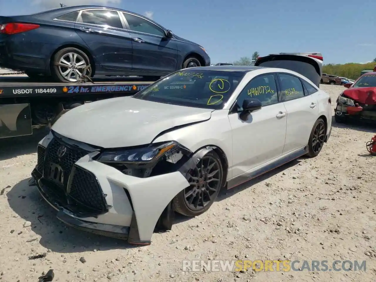
[[[96,250],[130,249],[124,240],[104,237],[69,227],[56,218],[56,211],[42,199],[29,178],[17,183],[6,193],[11,209],[32,223],[31,229],[40,237],[39,243],[58,253],[79,253]],[[20,232],[23,230],[15,230]],[[35,238],[35,237],[33,237]],[[30,238],[25,238],[30,240]]]

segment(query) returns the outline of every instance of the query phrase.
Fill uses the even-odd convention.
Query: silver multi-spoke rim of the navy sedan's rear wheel
[[[86,61],[81,55],[67,53],[59,61],[59,72],[66,80],[77,82],[81,79],[86,66]]]

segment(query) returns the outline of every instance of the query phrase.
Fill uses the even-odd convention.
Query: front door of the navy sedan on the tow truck
[[[123,13],[133,44],[133,70],[172,73],[177,67],[177,43],[156,24]]]

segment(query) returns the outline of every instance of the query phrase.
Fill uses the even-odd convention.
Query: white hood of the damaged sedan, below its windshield
[[[130,147],[150,144],[159,133],[173,127],[209,120],[212,111],[120,97],[73,108],[52,130],[92,146]]]

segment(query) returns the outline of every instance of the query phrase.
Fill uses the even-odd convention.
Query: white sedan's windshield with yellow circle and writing
[[[153,83],[133,96],[173,105],[222,109],[244,73],[235,71],[181,70]]]

